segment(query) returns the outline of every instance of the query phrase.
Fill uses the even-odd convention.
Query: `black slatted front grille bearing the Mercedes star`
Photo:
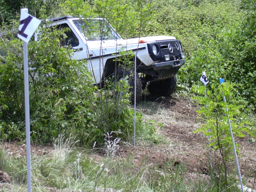
[[[162,50],[162,57],[164,57],[164,55],[179,55],[180,54],[180,44],[178,40],[170,40],[170,41],[159,41],[160,46],[161,46],[161,50]],[[169,47],[168,45],[172,46],[173,51],[170,52],[169,51]],[[179,48],[179,50],[177,49],[177,47]]]

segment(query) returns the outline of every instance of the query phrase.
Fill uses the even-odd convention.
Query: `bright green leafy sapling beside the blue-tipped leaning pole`
[[[233,86],[231,83],[223,83],[218,86],[211,84],[211,89],[207,90],[206,96],[204,92],[206,87],[192,87],[194,92],[202,96],[194,96],[193,99],[201,104],[201,108],[196,110],[199,117],[202,118],[204,124],[202,128],[197,129],[196,132],[204,132],[206,136],[210,136],[210,146],[214,151],[219,151],[224,167],[224,181],[227,183],[228,163],[232,162],[233,145],[228,125],[228,119],[231,122],[231,127],[234,137],[244,137],[247,133],[256,137],[255,130],[252,129],[252,124],[247,120],[246,116],[241,113],[242,105],[237,105],[234,100]],[[223,95],[227,102],[223,101]],[[227,110],[228,109],[228,110]],[[239,153],[240,147],[237,143],[236,151]],[[213,171],[214,172],[214,171]]]

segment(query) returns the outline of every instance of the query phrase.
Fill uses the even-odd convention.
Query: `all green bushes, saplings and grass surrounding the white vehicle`
[[[28,44],[31,140],[41,144],[55,141],[59,163],[55,166],[51,157],[49,161],[40,160],[43,163],[35,167],[35,170],[40,170],[40,173],[34,172],[36,177],[44,177],[44,182],[54,188],[80,188],[83,183],[71,187],[69,177],[65,183],[59,182],[62,174],[52,176],[49,171],[64,172],[67,165],[69,169],[75,169],[68,170],[73,174],[74,182],[81,177],[83,180],[92,178],[91,183],[87,183],[91,188],[89,191],[96,191],[98,182],[106,187],[109,175],[113,173],[112,168],[118,171],[112,177],[113,182],[121,178],[124,183],[129,183],[126,191],[148,191],[149,188],[152,191],[172,191],[174,188],[169,184],[178,180],[179,186],[175,190],[182,188],[180,191],[237,190],[234,169],[229,164],[234,161],[234,156],[226,115],[230,117],[236,137],[247,136],[248,141],[255,142],[255,0],[36,0],[32,3],[28,0],[0,0],[0,4],[1,33],[4,35],[0,37],[0,140],[17,140],[21,144],[25,141],[22,42],[11,31],[19,25],[20,8],[28,7],[30,14],[43,19],[43,24],[51,17],[63,15],[102,17],[123,38],[167,35],[181,40],[186,63],[177,76],[177,95],[192,97],[200,106],[204,106],[197,110],[202,126],[194,132],[211,135],[212,150],[220,152],[217,155],[220,165],[210,171],[211,178],[203,187],[199,180],[199,184],[195,182],[187,188],[186,183],[180,181],[181,172],[184,171],[181,167],[171,170],[172,174],[169,172],[166,178],[165,175],[159,177],[156,171],[154,178],[146,174],[149,165],[141,165],[138,171],[136,165],[128,160],[123,159],[120,163],[112,161],[113,151],[116,150],[115,147],[111,149],[114,142],[110,139],[112,136],[132,143],[134,110],[128,100],[129,95],[116,96],[116,86],[110,81],[107,82],[110,89],[93,87],[94,80],[90,78],[88,68],[81,68],[82,61],[70,59],[72,50],[59,47],[63,31],[39,27],[41,32],[38,40],[31,40]],[[123,60],[124,63],[129,62],[125,53]],[[210,81],[207,84],[207,98],[204,98],[205,87],[199,80],[203,71]],[[223,86],[219,84],[220,77],[227,82]],[[227,97],[226,104],[222,100],[222,93]],[[147,92],[143,94],[147,95]],[[136,112],[137,143],[150,145],[164,142],[158,134],[159,129],[156,130],[156,127],[164,127],[162,122],[147,119],[140,112]],[[108,135],[110,132],[111,137]],[[61,142],[66,147],[62,148]],[[80,161],[81,154],[77,156],[72,152],[73,149],[78,150],[77,147],[101,148],[104,144],[109,144],[107,154],[111,155],[108,154],[102,164],[95,160],[98,164],[95,167],[94,163],[89,163],[89,157]],[[7,156],[0,149],[0,171],[6,170],[12,174],[21,172],[20,177],[13,178],[25,183],[24,166]],[[12,162],[14,168],[6,162]],[[136,174],[132,176],[134,172]],[[148,180],[145,184],[147,187],[143,186],[143,189],[139,186],[144,173]],[[165,187],[161,188],[159,183],[164,183]],[[39,182],[37,184],[41,185]],[[121,183],[116,185],[117,188],[125,188]]]

